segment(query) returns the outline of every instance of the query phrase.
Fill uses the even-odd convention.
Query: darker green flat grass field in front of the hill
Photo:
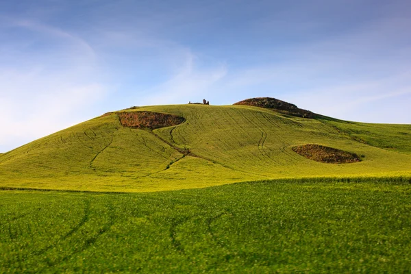
[[[404,273],[410,194],[404,179],[2,190],[0,272]]]

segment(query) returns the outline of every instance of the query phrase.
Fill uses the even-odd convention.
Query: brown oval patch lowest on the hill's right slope
[[[293,147],[293,151],[299,153],[310,160],[329,164],[348,164],[360,162],[360,158],[356,153],[349,153],[332,147],[322,145],[302,145]]]

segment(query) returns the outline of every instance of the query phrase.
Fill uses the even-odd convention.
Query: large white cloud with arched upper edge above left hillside
[[[0,45],[0,151],[91,118],[95,111],[88,110],[108,92],[95,51],[82,38],[35,21],[9,20],[7,26],[34,34],[23,38],[28,48]],[[53,50],[30,49],[39,35]]]

